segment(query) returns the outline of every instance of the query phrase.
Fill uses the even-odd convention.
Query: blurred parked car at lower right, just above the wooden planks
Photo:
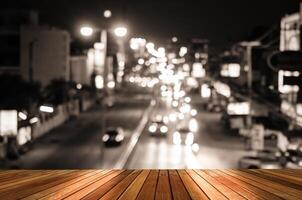
[[[286,160],[280,151],[258,151],[256,156],[245,156],[239,160],[240,169],[282,169]]]

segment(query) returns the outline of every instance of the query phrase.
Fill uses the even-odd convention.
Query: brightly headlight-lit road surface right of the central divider
[[[167,137],[152,137],[146,128],[126,168],[237,168],[240,157],[248,154],[244,150],[242,139],[224,129],[219,113],[205,112],[200,104],[194,102],[192,107],[197,109],[197,116],[169,122]],[[173,109],[164,103],[154,110],[154,114],[166,116],[171,112]],[[184,144],[173,144],[173,133],[178,124],[183,123],[197,128],[194,133],[194,146],[199,147],[199,150]]]

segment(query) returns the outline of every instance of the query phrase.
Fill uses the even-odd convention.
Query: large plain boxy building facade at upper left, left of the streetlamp
[[[54,79],[69,80],[70,35],[43,26],[22,26],[20,30],[20,73],[26,81],[44,87]]]

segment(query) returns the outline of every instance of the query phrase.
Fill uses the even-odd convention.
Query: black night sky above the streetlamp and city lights
[[[68,29],[75,37],[81,24],[97,25],[109,8],[111,24],[126,23],[133,36],[155,42],[174,35],[182,40],[199,37],[223,45],[244,39],[257,26],[278,25],[282,16],[299,10],[299,1],[10,0],[4,7],[37,9],[42,23]]]

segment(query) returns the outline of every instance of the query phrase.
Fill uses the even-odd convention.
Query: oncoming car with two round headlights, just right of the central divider
[[[157,115],[149,124],[148,131],[151,136],[166,136],[169,128],[166,125],[169,118]]]

